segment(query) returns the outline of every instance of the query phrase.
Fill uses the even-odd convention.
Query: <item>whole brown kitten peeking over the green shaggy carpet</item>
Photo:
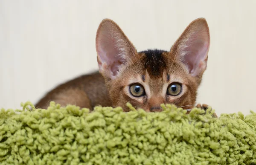
[[[193,20],[169,51],[137,52],[122,29],[110,19],[99,24],[96,52],[99,71],[59,85],[35,104],[47,108],[50,101],[93,110],[96,105],[122,107],[126,103],[148,112],[160,112],[160,104],[195,107],[197,90],[207,68],[209,27],[204,18]],[[197,107],[207,108],[206,104]]]

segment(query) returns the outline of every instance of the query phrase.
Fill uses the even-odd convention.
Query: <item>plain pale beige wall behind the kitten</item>
[[[0,107],[35,103],[48,90],[97,69],[103,18],[137,49],[169,50],[198,17],[211,35],[198,102],[218,114],[256,111],[256,0],[0,0]]]

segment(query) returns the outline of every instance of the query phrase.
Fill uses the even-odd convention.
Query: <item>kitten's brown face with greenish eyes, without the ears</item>
[[[137,61],[108,83],[113,106],[130,102],[146,111],[160,111],[160,104],[195,104],[197,80],[170,52],[149,50],[137,53]],[[171,58],[172,57],[172,58]],[[190,108],[188,106],[184,108]]]

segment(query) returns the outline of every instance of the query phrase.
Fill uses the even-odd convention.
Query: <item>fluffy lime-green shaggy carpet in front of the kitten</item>
[[[174,105],[161,113],[54,102],[0,111],[0,165],[255,165],[256,113],[190,114]],[[32,107],[32,110],[29,107]]]

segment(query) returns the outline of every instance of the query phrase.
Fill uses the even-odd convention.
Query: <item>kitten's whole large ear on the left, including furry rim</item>
[[[137,55],[136,49],[110,19],[104,19],[96,34],[96,51],[99,71],[108,78],[115,79],[120,67]]]

